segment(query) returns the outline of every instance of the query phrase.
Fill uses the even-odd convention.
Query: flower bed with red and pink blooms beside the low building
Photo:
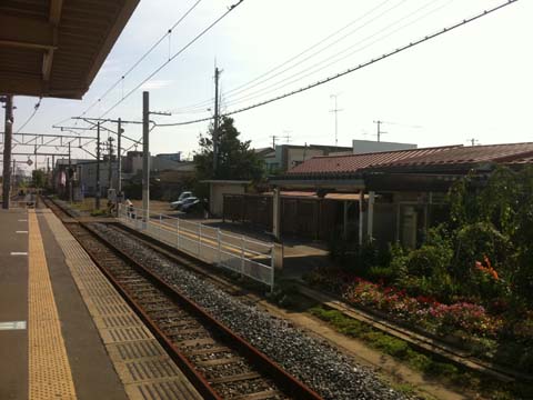
[[[338,268],[315,269],[305,279],[311,286],[371,313],[438,337],[481,358],[491,359],[497,353],[499,363],[533,373],[533,311],[516,318],[509,313],[507,304],[491,310],[472,301],[446,304],[432,297],[409,296],[405,290],[371,282]]]

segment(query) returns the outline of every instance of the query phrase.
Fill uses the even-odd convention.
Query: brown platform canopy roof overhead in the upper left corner
[[[0,93],[81,99],[139,0],[1,0]]]

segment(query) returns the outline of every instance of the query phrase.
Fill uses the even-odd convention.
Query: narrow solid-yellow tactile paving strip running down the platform
[[[34,210],[28,210],[29,398],[76,399],[58,309]]]

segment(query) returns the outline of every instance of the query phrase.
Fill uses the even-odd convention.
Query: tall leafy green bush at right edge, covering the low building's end
[[[514,294],[533,306],[533,167],[500,167],[483,187],[469,177],[452,194],[456,267],[486,254]]]

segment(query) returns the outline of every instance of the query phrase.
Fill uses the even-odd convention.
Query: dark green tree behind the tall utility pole
[[[200,151],[194,156],[198,179],[235,179],[258,182],[263,177],[262,160],[250,148],[250,141],[241,141],[233,119],[222,117],[219,127],[219,157],[213,171],[213,127],[200,137]]]

